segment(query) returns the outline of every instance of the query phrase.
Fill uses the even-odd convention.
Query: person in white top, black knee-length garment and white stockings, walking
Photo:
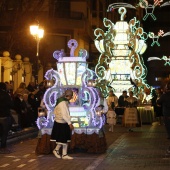
[[[52,128],[51,141],[56,141],[56,148],[53,154],[57,158],[73,159],[67,155],[68,142],[71,141],[71,131],[74,126],[71,123],[71,117],[68,107],[68,102],[73,97],[72,90],[66,90],[63,97],[57,99],[56,107],[54,108],[55,121]],[[60,148],[62,147],[62,157]]]

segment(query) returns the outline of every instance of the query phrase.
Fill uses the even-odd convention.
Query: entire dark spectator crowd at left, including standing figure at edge
[[[36,127],[38,107],[46,91],[45,82],[30,82],[28,86],[20,83],[13,91],[9,82],[0,82],[0,154],[10,153],[7,137],[27,127]]]

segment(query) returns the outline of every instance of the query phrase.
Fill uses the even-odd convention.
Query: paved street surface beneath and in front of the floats
[[[116,125],[114,132],[108,132],[106,125],[107,152],[88,154],[75,152],[73,160],[57,159],[53,154],[36,155],[37,138],[28,139],[10,148],[11,154],[0,155],[0,169],[13,170],[169,170],[170,155],[166,149],[170,140],[166,139],[165,127],[157,123],[134,128]]]

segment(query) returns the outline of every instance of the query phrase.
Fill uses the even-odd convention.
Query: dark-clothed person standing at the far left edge
[[[0,82],[0,153],[10,153],[7,148],[8,132],[11,129],[11,115],[10,109],[13,107],[13,102],[8,92],[6,91],[6,84]]]

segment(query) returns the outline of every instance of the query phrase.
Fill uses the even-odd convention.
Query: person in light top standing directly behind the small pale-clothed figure
[[[115,107],[118,106],[118,97],[114,94],[113,90],[109,91],[109,96],[107,98],[107,105],[108,108],[112,108],[112,110],[115,109]]]

